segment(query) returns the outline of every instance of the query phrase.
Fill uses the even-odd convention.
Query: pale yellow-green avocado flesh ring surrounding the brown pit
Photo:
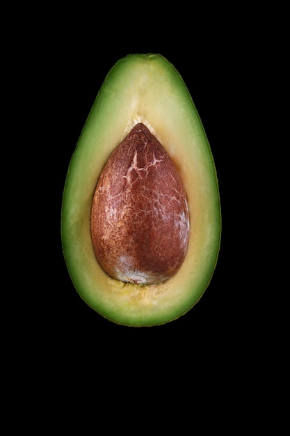
[[[190,219],[181,267],[170,279],[149,285],[108,276],[97,262],[90,232],[92,198],[102,169],[137,123],[147,126],[175,162]],[[204,293],[216,267],[220,233],[214,159],[182,77],[160,54],[124,56],[104,79],[65,180],[61,238],[74,287],[92,309],[117,324],[165,324],[188,312]]]

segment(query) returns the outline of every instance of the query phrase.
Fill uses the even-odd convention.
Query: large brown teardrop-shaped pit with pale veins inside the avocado
[[[182,265],[186,193],[177,167],[143,123],[115,148],[99,176],[91,234],[99,265],[114,279],[157,283]]]

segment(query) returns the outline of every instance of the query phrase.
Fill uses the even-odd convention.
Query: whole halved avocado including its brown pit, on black
[[[132,141],[133,146],[136,145],[135,139],[130,142],[136,130],[141,146],[147,138],[152,141],[155,148],[150,151],[150,158],[142,157],[143,152],[137,153],[136,148],[129,154]],[[157,155],[155,149],[161,150],[160,147],[164,153]],[[121,148],[119,155],[122,158],[118,157],[118,160],[116,150]],[[166,162],[170,162],[168,173],[156,164],[164,155]],[[121,166],[122,171],[117,173]],[[171,171],[175,180],[178,179],[179,201],[177,194],[173,194],[174,189],[177,192],[177,185],[173,185]],[[141,173],[143,182],[134,191],[132,186]],[[100,180],[101,194],[106,191],[109,195],[106,201],[96,205]],[[104,180],[107,180],[108,189]],[[120,189],[117,180],[122,181]],[[172,187],[170,193],[164,190],[168,186]],[[127,187],[129,194],[122,197],[122,202],[115,202]],[[143,192],[142,200],[133,192]],[[136,196],[138,201],[134,199]],[[129,205],[126,198],[131,198]],[[145,203],[144,198],[147,198]],[[170,210],[170,219],[165,218],[169,215],[161,213],[165,210],[165,200],[168,208],[174,204],[172,210],[166,210],[166,214]],[[141,209],[143,218],[138,222]],[[124,210],[129,210],[126,220],[122,219]],[[159,214],[156,221],[153,210]],[[150,211],[153,215],[148,215],[147,219],[146,214]],[[117,213],[118,219],[114,221]],[[177,216],[187,219],[184,221],[187,239],[182,254],[173,237],[176,221],[173,217]],[[95,221],[97,219],[99,221]],[[182,220],[176,222],[181,228]],[[110,226],[102,228],[106,223]],[[111,233],[106,238],[105,251],[107,228]],[[127,233],[122,235],[122,243],[116,245],[120,237],[118,228],[120,231],[125,228]],[[216,267],[220,235],[220,195],[214,159],[182,77],[161,54],[124,56],[104,79],[76,144],[65,180],[61,240],[74,287],[92,309],[112,322],[132,327],[165,324],[184,315],[202,297]],[[163,249],[158,249],[161,246]],[[111,256],[113,250],[117,250],[118,256]],[[122,258],[125,264],[132,254],[138,256],[138,267],[143,265],[144,270],[150,257],[155,256],[148,268],[156,265],[158,271],[154,274],[159,274],[159,279],[144,279],[143,272],[135,270],[135,263],[129,268],[129,279],[127,273],[113,274],[112,271],[118,270],[116,259]],[[180,261],[170,270],[172,259],[177,256]],[[106,262],[106,259],[110,261]],[[106,270],[106,263],[113,265],[115,270],[110,267]],[[141,279],[136,279],[140,275]]]

